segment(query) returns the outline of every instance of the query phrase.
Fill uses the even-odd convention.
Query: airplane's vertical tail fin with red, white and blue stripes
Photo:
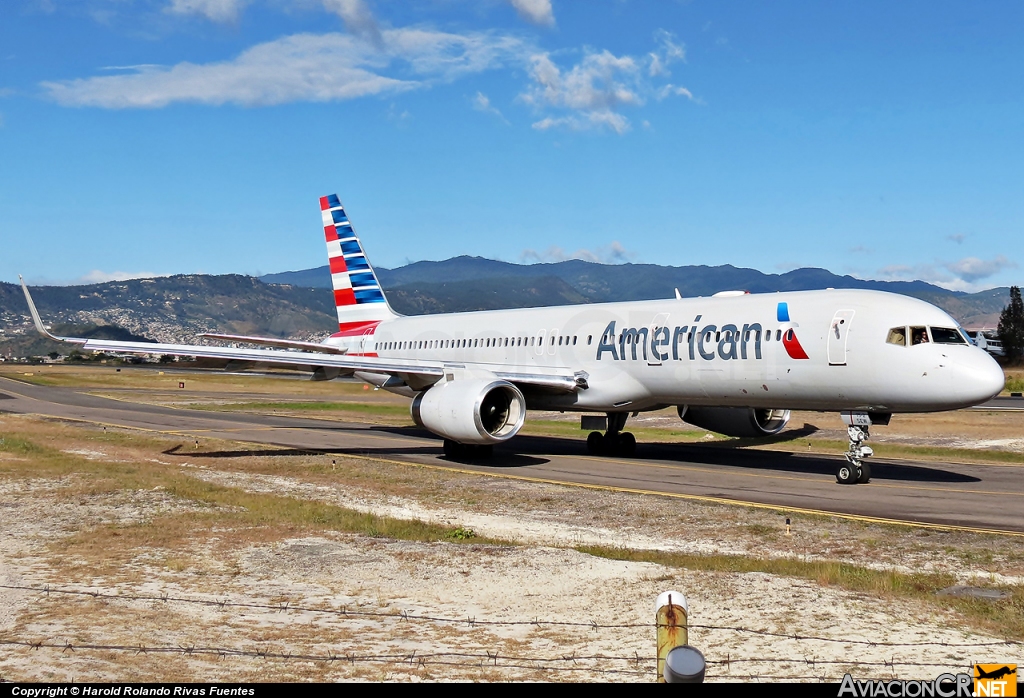
[[[338,335],[362,335],[381,320],[397,317],[337,194],[321,197],[328,263],[338,308]],[[336,336],[338,336],[336,335]]]

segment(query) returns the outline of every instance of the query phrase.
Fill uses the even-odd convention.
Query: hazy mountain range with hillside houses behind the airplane
[[[752,293],[813,289],[874,289],[934,303],[968,326],[994,328],[1009,302],[1009,289],[975,294],[947,291],[925,281],[877,281],[841,276],[825,269],[766,274],[724,266],[597,264],[567,260],[512,264],[479,257],[415,262],[378,268],[395,311],[426,314],[522,308],[572,303],[638,301],[711,296],[720,291]],[[316,339],[335,322],[327,266],[267,274],[184,274],[85,286],[39,287],[33,297],[48,323],[79,333],[127,332],[162,342],[194,342],[203,332]],[[118,330],[110,330],[115,328]],[[20,288],[0,282],[0,355],[66,352],[67,347],[30,332]]]

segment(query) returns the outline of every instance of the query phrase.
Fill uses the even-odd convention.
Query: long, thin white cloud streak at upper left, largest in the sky
[[[258,44],[230,60],[140,66],[127,75],[44,82],[42,87],[66,106],[105,108],[334,101],[455,80],[517,59],[524,50],[518,39],[481,33],[401,29],[385,31],[381,38],[383,44],[376,46],[344,34],[297,34]],[[404,77],[382,74],[395,62]]]

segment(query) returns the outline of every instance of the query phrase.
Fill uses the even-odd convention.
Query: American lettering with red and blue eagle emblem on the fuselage
[[[600,361],[605,354],[609,354],[611,359],[615,361],[630,359],[659,362],[668,361],[670,358],[674,361],[684,358],[693,361],[697,357],[706,361],[715,358],[723,361],[746,358],[760,359],[762,357],[762,341],[771,341],[765,335],[765,330],[760,322],[743,323],[742,325],[726,323],[721,328],[717,324],[700,326],[701,317],[702,315],[694,317],[692,325],[626,328],[621,333],[615,332],[615,320],[611,320],[604,329],[601,340],[598,342],[597,360]],[[801,346],[800,340],[797,339],[794,330],[798,326],[797,323],[790,320],[788,304],[778,304],[776,318],[780,324],[788,325],[779,329],[778,333],[782,346],[790,357],[795,359],[809,358]],[[771,330],[767,332],[771,333]]]

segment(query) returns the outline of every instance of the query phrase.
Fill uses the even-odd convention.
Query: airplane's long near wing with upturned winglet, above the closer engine
[[[559,392],[575,392],[587,385],[587,376],[568,368],[534,367],[523,372],[516,366],[501,366],[481,363],[445,363],[444,361],[406,358],[382,358],[378,356],[348,356],[330,354],[323,351],[302,351],[289,349],[242,349],[238,347],[209,347],[195,344],[162,344],[150,342],[121,342],[117,340],[84,339],[77,337],[56,337],[45,328],[29,288],[22,279],[22,289],[29,302],[29,311],[36,330],[53,341],[77,344],[88,351],[108,351],[126,354],[169,354],[171,356],[198,356],[225,359],[241,363],[259,363],[298,370],[317,368],[337,369],[339,373],[361,372],[392,376],[417,390],[436,383],[444,375],[445,367],[473,367],[493,373],[498,378],[519,385],[529,385]],[[222,336],[224,337],[224,336]],[[232,340],[236,336],[228,335]],[[242,341],[242,340],[238,340]],[[307,344],[307,343],[296,343]],[[321,345],[313,345],[319,347]]]

